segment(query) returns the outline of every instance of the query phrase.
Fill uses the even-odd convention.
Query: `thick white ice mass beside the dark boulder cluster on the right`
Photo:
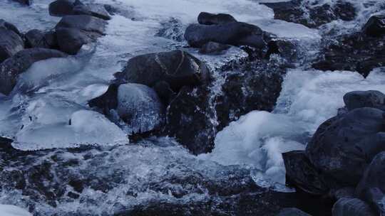
[[[212,153],[200,155],[224,165],[245,164],[255,176],[284,183],[281,153],[303,149],[319,124],[344,106],[353,90],[385,92],[385,74],[378,68],[364,79],[356,72],[291,70],[274,112],[250,112],[230,123],[215,138]]]

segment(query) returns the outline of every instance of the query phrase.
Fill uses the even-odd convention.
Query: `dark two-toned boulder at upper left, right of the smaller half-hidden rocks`
[[[60,50],[75,55],[82,45],[103,36],[106,24],[103,19],[93,16],[64,16],[55,27]]]

